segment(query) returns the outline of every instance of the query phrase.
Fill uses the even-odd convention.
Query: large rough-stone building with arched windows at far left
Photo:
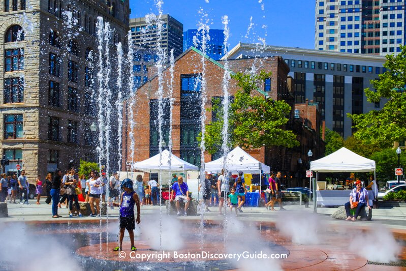
[[[10,160],[5,170],[16,171],[19,162],[33,182],[37,174],[95,159],[89,127],[97,115],[90,106],[97,17],[114,29],[115,48],[113,42],[123,43],[129,30],[129,3],[1,0],[0,7],[0,150]]]

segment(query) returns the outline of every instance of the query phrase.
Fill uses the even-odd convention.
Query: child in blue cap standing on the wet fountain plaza
[[[124,238],[124,232],[128,231],[130,235],[131,251],[137,251],[134,245],[134,229],[135,222],[140,224],[140,199],[137,193],[133,190],[133,182],[131,179],[124,179],[121,184],[121,189],[124,192],[121,194],[120,201],[120,245],[113,249],[113,251],[122,250],[122,239]],[[137,219],[134,216],[134,205],[137,205]]]

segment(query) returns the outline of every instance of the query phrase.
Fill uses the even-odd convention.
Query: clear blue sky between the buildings
[[[163,0],[163,13],[183,23],[183,31],[197,28],[203,9],[211,29],[223,29],[229,17],[229,48],[239,41],[264,39],[267,45],[314,48],[315,1],[313,0]],[[154,0],[131,0],[130,18],[157,14]],[[252,17],[253,26],[248,32]]]

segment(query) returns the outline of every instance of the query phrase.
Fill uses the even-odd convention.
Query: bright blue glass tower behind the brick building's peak
[[[201,44],[194,44],[193,37],[197,37],[197,29],[188,29],[183,32],[183,51],[188,50],[192,46],[202,50]],[[208,35],[210,40],[207,41],[206,54],[218,61],[224,56],[226,48],[224,47],[224,32],[223,29],[209,29]]]

